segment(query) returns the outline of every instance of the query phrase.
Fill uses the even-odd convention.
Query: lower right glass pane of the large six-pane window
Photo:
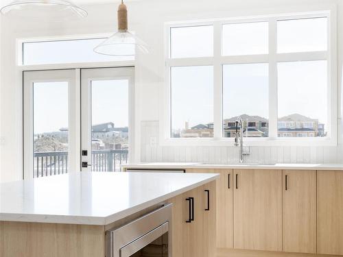
[[[279,63],[279,136],[327,136],[327,93],[327,61]]]

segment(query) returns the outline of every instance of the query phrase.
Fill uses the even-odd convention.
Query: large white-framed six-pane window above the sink
[[[165,138],[335,140],[330,12],[167,26]],[[297,139],[299,140],[299,139]]]

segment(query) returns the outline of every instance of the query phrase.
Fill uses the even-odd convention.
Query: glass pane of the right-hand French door
[[[128,79],[91,84],[92,170],[119,171],[128,162]]]

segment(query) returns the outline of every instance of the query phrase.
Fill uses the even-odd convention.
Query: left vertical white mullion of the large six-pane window
[[[222,24],[214,24],[213,33],[213,136],[222,138],[223,131],[223,90],[222,90],[222,64],[220,62],[222,56]]]

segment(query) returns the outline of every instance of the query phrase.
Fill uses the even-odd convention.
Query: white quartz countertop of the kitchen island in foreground
[[[107,225],[217,174],[74,172],[0,184],[0,221]]]

